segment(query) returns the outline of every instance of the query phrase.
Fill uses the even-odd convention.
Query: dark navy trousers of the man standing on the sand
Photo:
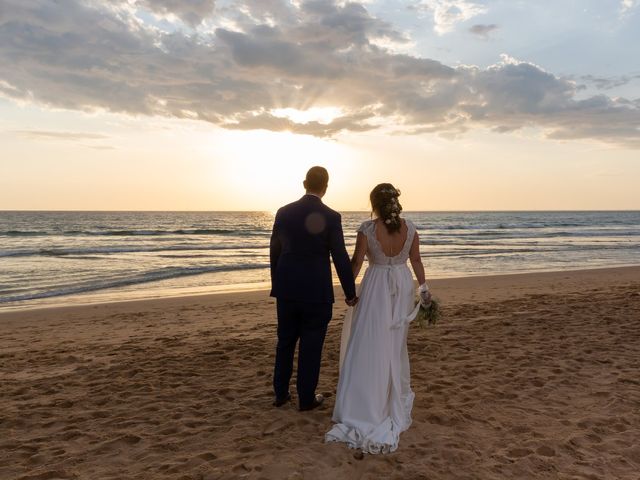
[[[304,407],[313,403],[318,378],[322,346],[331,320],[333,304],[295,302],[277,299],[278,345],[273,372],[276,398],[285,398],[293,372],[293,356],[298,349],[298,402]]]

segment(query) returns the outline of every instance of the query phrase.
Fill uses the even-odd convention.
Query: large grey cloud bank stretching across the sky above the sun
[[[445,136],[537,127],[550,138],[640,148],[640,101],[580,98],[573,80],[508,56],[488,68],[453,68],[393,53],[377,41],[410,39],[359,3],[238,1],[186,33],[112,5],[4,0],[0,95],[324,137],[381,126]],[[327,122],[276,114],[312,108],[339,113]]]

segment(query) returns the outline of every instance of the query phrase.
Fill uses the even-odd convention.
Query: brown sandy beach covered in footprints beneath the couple
[[[397,452],[271,406],[267,292],[0,314],[0,479],[638,479],[640,267],[434,280]],[[295,400],[295,398],[294,398]]]

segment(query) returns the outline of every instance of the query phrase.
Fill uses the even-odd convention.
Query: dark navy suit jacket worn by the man
[[[347,298],[356,296],[340,214],[315,195],[280,208],[271,234],[271,296],[333,303],[331,262]]]

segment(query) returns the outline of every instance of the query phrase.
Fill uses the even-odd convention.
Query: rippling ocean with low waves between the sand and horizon
[[[405,212],[427,278],[640,265],[640,211]],[[368,212],[344,212],[351,253]],[[270,212],[0,212],[0,310],[269,286]]]

